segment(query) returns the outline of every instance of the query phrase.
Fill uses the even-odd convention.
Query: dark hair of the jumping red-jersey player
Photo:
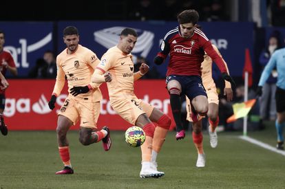
[[[193,23],[193,25],[195,25],[198,23],[199,13],[193,9],[184,10],[178,14],[177,20],[179,24]]]

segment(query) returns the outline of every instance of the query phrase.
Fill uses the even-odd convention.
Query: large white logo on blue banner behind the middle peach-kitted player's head
[[[105,28],[94,32],[94,40],[109,49],[114,47],[118,43],[118,37],[120,32],[125,29],[122,26],[115,26]],[[138,32],[138,42],[134,47],[132,53],[140,53],[140,56],[147,57],[149,51],[151,50],[152,45],[154,45],[154,33],[149,31],[142,31],[140,29],[134,29]]]

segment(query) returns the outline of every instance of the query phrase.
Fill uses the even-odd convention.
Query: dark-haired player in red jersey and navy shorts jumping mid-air
[[[218,65],[224,80],[234,83],[227,74],[222,58],[215,52],[207,36],[198,28],[199,14],[196,10],[184,10],[177,16],[179,26],[170,30],[163,38],[154,63],[160,65],[170,56],[167,67],[167,90],[176,128],[182,129],[180,96],[186,95],[191,101],[191,118],[198,122],[198,115],[208,111],[207,93],[202,85],[201,63],[204,52]],[[180,131],[177,130],[177,135]],[[202,142],[202,133],[193,133],[195,143]]]

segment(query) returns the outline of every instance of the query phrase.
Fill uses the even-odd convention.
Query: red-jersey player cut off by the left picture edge
[[[11,54],[9,52],[6,52],[3,50],[3,45],[5,43],[5,34],[0,30],[0,71],[3,77],[1,76],[1,87],[0,87],[0,131],[3,135],[8,134],[8,129],[6,124],[4,123],[3,118],[3,111],[5,109],[5,89],[8,87],[8,82],[6,85],[3,84],[5,82],[4,76],[6,74],[7,69],[10,71],[10,73],[14,76],[17,76],[17,67],[14,63],[14,59],[12,58]]]

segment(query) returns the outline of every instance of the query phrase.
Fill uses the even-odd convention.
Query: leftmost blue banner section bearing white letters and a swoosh
[[[52,22],[0,22],[5,32],[4,49],[12,54],[19,77],[27,77],[45,50],[53,49]],[[9,71],[6,74],[10,77]]]

